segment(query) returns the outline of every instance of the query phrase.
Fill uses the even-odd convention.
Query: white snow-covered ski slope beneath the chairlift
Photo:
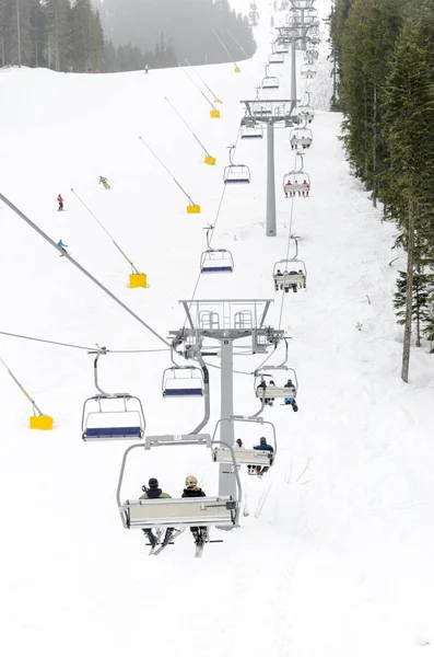
[[[317,7],[325,18],[329,0]],[[350,175],[338,140],[342,117],[327,111],[325,38],[308,83],[316,107],[305,157],[312,197],[284,198],[281,180],[294,153],[289,131],[277,129],[278,235],[265,235],[266,139],[238,139],[239,100],[255,97],[273,38],[271,3],[259,10],[258,51],[239,74],[228,64],[200,68],[223,101],[220,120],[209,118],[209,105],[178,69],[0,70],[0,192],[163,337],[183,325],[178,300],[193,292],[273,299],[268,320],[292,337],[289,365],[300,380],[297,414],[278,403],[265,411],[279,458],[262,480],[242,473],[249,515],[241,528],[213,530],[224,542],[207,545],[200,561],[188,531],[153,558],[140,531],[122,529],[116,506],[128,443],[81,440],[82,405],[95,392],[93,357],[1,335],[0,356],[55,418],[52,431],[31,431],[30,404],[0,368],[0,648],[8,657],[434,655],[432,357],[413,349],[411,381],[402,383],[402,331],[391,303],[397,272],[389,266],[396,231]],[[274,14],[275,23],[283,16]],[[288,56],[270,74],[281,82],[275,97],[288,97]],[[203,164],[165,97],[215,168]],[[186,198],[139,136],[201,205],[200,215],[186,214]],[[251,184],[223,194],[231,143]],[[98,186],[99,175],[110,191]],[[127,287],[126,261],[71,188],[146,273],[146,290]],[[0,206],[0,330],[87,348],[156,349],[103,357],[102,384],[142,399],[149,434],[191,430],[200,402],[161,394],[172,365],[164,345]],[[198,279],[208,223],[215,223],[212,245],[234,255],[232,275]],[[290,231],[300,235],[308,288],[274,293],[272,268],[285,257]],[[279,357],[283,349],[274,364]],[[249,372],[262,360],[235,358],[246,372],[234,376],[236,413],[257,411]],[[210,376],[207,430],[220,417],[219,369]],[[249,446],[260,435],[241,428],[236,437]],[[187,474],[216,493],[218,468],[202,449],[155,452],[128,471],[128,497],[150,476],[180,495]]]

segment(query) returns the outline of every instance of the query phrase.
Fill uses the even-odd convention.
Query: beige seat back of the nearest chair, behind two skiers
[[[120,507],[128,529],[153,527],[233,527],[238,503],[230,496],[131,499]]]

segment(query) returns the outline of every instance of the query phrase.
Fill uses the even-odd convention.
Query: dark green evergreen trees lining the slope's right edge
[[[407,251],[395,295],[407,381],[411,333],[434,351],[434,4],[336,0],[328,22],[348,159]]]

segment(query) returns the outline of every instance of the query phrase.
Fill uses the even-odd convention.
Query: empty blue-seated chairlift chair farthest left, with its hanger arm
[[[98,385],[98,358],[107,354],[102,347],[94,360],[95,387],[101,394],[89,397],[83,404],[81,428],[85,441],[131,440],[143,438],[145,420],[139,397],[128,392],[107,393]]]

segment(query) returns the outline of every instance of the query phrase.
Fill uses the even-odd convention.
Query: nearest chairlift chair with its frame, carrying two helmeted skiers
[[[222,446],[230,446],[219,440]],[[211,447],[209,434],[188,434],[180,436],[149,436],[144,449],[163,446],[204,445]],[[233,529],[238,525],[239,507],[242,500],[242,485],[237,469],[234,470],[237,495],[193,498],[157,498],[157,499],[127,499],[122,503],[121,489],[128,456],[131,450],[141,445],[132,445],[126,450],[119,473],[116,493],[117,506],[125,529],[153,529],[173,527],[223,527]],[[235,458],[233,457],[233,463]]]

